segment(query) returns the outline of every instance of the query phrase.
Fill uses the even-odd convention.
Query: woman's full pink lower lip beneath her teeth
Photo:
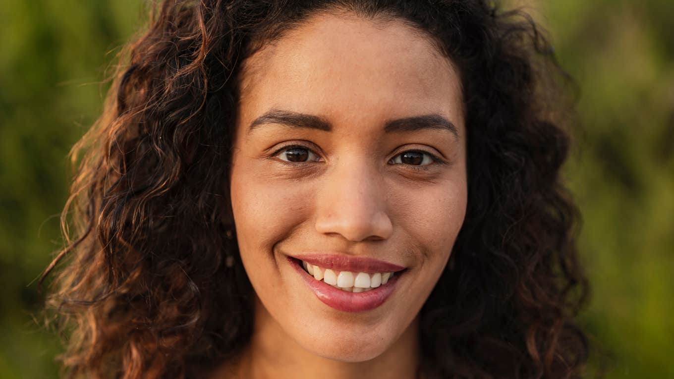
[[[288,262],[297,270],[320,301],[336,310],[344,312],[363,312],[379,307],[396,289],[396,283],[398,283],[398,278],[400,278],[400,274],[396,274],[385,285],[380,285],[367,292],[353,293],[332,287],[324,281],[317,281],[297,263],[295,258],[288,257]]]

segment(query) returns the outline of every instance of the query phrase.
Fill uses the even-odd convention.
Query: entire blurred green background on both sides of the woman
[[[674,378],[674,1],[518,3],[582,91],[565,174],[592,281],[588,377]],[[63,243],[67,152],[145,13],[142,0],[0,0],[0,378],[57,376],[34,280]]]

